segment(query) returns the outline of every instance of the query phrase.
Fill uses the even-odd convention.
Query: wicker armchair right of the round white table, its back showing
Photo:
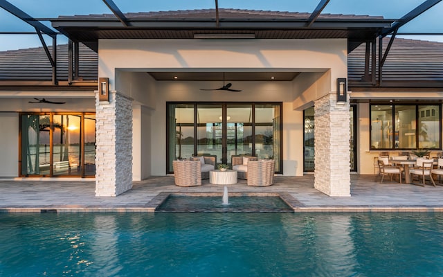
[[[271,186],[274,173],[274,160],[248,161],[248,186]]]

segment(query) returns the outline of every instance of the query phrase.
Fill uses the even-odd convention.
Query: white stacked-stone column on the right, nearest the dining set
[[[314,103],[314,188],[332,196],[350,196],[349,96],[337,103],[336,93]]]

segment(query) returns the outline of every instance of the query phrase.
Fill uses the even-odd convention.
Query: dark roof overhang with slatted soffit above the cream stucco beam
[[[127,26],[111,15],[59,17],[52,26],[75,42],[97,51],[98,39],[194,39],[199,35],[250,35],[255,39],[348,39],[351,51],[390,28],[382,17],[165,19],[130,17]]]

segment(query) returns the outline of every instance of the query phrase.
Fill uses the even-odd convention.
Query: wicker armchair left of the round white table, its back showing
[[[201,186],[200,161],[172,161],[176,186]]]

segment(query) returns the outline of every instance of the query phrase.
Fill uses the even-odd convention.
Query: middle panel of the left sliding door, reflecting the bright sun
[[[81,173],[81,116],[53,116],[53,175]]]

